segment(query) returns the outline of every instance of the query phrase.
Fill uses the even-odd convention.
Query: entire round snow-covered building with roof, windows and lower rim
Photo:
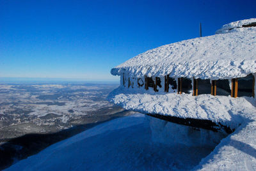
[[[120,87],[109,100],[174,123],[230,132],[241,123],[231,117],[241,117],[244,101],[254,100],[255,73],[256,19],[239,20],[116,66],[111,74],[120,76]]]

